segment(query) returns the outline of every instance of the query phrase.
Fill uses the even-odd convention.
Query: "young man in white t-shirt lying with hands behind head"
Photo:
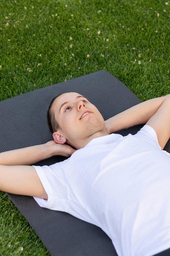
[[[62,94],[49,109],[54,141],[0,154],[0,190],[101,227],[120,256],[169,255],[169,109],[167,95],[104,121],[82,95]],[[110,134],[137,124],[136,135]],[[28,166],[52,155],[71,157]]]

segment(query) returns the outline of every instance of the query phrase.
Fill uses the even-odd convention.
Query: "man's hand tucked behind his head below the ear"
[[[52,155],[62,155],[64,157],[70,157],[76,149],[67,144],[58,144],[54,140],[48,141],[46,146],[52,151]]]

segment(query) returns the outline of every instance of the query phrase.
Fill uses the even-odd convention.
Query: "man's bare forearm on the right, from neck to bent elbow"
[[[144,101],[106,120],[105,124],[108,133],[138,124],[146,124],[167,97],[169,96]]]

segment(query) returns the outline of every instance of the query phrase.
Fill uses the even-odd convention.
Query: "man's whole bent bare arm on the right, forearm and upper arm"
[[[170,137],[170,95],[150,99],[129,108],[105,121],[109,133],[137,124],[148,124],[157,133],[163,148]]]

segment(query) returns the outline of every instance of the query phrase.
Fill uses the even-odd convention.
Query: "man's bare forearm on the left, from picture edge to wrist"
[[[40,160],[51,157],[52,150],[46,144],[20,148],[0,153],[0,164],[2,165],[30,165]]]

